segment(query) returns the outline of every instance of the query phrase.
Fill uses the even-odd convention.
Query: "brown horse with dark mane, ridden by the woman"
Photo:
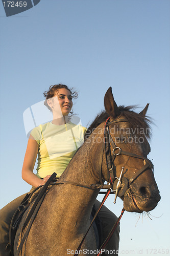
[[[159,190],[153,164],[147,158],[151,136],[146,116],[149,104],[139,114],[131,106],[118,107],[110,87],[104,105],[105,111],[89,126],[84,144],[58,184],[46,194],[23,244],[23,254],[19,255],[67,255],[68,248],[69,253],[76,251],[90,225],[94,201],[105,181],[113,185],[126,211],[141,213],[157,206]],[[91,184],[99,186],[90,187]],[[97,249],[91,228],[81,250],[84,248]]]

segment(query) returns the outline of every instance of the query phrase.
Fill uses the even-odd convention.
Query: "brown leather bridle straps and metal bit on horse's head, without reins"
[[[130,153],[127,151],[123,151],[120,147],[116,146],[115,142],[113,141],[110,131],[109,131],[109,125],[112,123],[118,123],[118,122],[128,122],[126,119],[119,119],[115,121],[109,121],[110,117],[106,120],[105,127],[104,127],[104,142],[103,142],[103,150],[102,150],[102,158],[103,158],[103,152],[105,152],[106,156],[106,163],[107,163],[107,169],[108,169],[108,184],[112,186],[112,189],[116,190],[115,200],[116,197],[122,197],[125,194],[126,189],[134,182],[134,180],[137,179],[138,176],[140,176],[145,170],[151,169],[154,170],[153,163],[143,156],[136,155],[134,153]],[[111,147],[110,144],[113,147],[112,153],[111,153]],[[120,177],[116,177],[116,166],[114,165],[114,160],[119,155],[126,155],[130,157],[135,157],[138,159],[143,159],[143,166],[134,174],[134,176],[128,181],[126,177],[123,176],[123,169],[120,174]],[[102,165],[102,163],[101,163]],[[102,167],[102,166],[101,166]],[[101,168],[102,172],[102,168]],[[103,184],[102,180],[102,173],[100,174],[100,182]],[[114,200],[114,203],[115,203]]]

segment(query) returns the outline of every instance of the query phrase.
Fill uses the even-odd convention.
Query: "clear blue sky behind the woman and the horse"
[[[150,103],[149,157],[161,194],[152,221],[125,212],[119,254],[169,248],[169,10],[168,0],[41,0],[6,17],[0,4],[0,207],[30,190],[21,179],[28,141],[23,112],[42,101],[51,84],[65,83],[79,91],[74,112],[86,126],[104,108],[111,86],[118,105]],[[119,215],[123,202],[113,205],[110,196],[106,206]]]

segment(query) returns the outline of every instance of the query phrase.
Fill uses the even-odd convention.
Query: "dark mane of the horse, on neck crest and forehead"
[[[133,131],[136,131],[137,129],[138,130],[142,129],[143,135],[145,135],[147,139],[151,139],[150,124],[152,123],[152,120],[148,116],[139,115],[138,113],[134,112],[136,108],[137,106],[135,105],[134,106],[124,106],[124,105],[118,106],[120,115],[123,115],[128,120],[130,124],[130,128]],[[92,131],[96,127],[98,127],[102,122],[106,121],[108,117],[109,115],[105,110],[98,113],[95,119],[89,125],[87,132],[85,134],[85,138],[88,138],[89,135],[92,133]]]

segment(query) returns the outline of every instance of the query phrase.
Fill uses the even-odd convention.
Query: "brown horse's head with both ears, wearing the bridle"
[[[111,156],[109,161],[113,161],[110,171],[113,189],[119,190],[118,196],[124,201],[125,210],[150,211],[156,207],[160,195],[154,178],[153,164],[147,158],[150,152],[147,140],[150,137],[150,126],[145,114],[149,104],[139,114],[130,108],[118,107],[111,87],[105,94],[104,104],[110,117],[106,126]],[[109,159],[109,154],[106,155],[106,162],[107,157]],[[106,180],[107,172],[108,170],[103,170]]]

